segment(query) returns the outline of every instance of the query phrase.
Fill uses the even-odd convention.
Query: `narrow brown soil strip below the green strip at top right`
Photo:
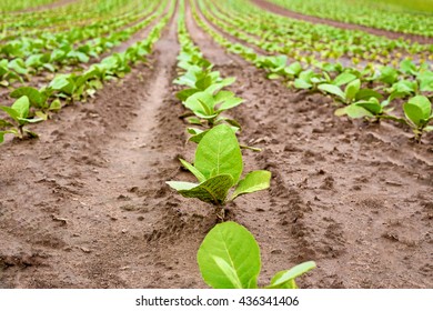
[[[361,30],[361,31],[370,32],[370,33],[375,34],[375,36],[383,36],[383,37],[386,37],[390,39],[403,38],[403,39],[407,39],[407,40],[423,43],[423,44],[433,44],[433,38],[394,32],[394,31],[390,31],[390,30],[376,29],[376,28],[371,28],[371,27],[355,24],[355,23],[346,23],[346,22],[335,21],[335,20],[331,20],[331,19],[306,16],[306,14],[290,11],[285,8],[282,8],[278,4],[269,2],[266,0],[250,0],[250,1],[255,3],[256,6],[259,6],[260,8],[266,9],[273,13],[278,13],[278,14],[289,17],[292,19],[304,20],[304,21],[309,21],[309,22],[313,22],[313,23],[324,23],[324,24],[329,24],[329,26],[338,27],[338,28],[342,28],[342,29]]]

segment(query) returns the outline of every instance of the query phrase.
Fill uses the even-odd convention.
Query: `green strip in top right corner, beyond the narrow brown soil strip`
[[[433,21],[429,13],[395,10],[380,1],[349,0],[270,0],[283,8],[303,14],[356,23],[403,33],[433,37]],[[413,2],[410,7],[413,8]],[[421,8],[425,9],[426,2]],[[431,13],[431,12],[430,12]]]

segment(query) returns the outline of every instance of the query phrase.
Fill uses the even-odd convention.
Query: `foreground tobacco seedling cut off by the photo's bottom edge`
[[[197,260],[204,282],[214,289],[258,289],[260,248],[241,224],[216,224],[201,243]],[[298,289],[295,279],[315,267],[308,261],[280,271],[265,289]]]

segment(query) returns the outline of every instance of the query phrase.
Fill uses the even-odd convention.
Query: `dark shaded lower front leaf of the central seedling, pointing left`
[[[222,204],[233,185],[233,178],[230,174],[219,174],[200,184],[180,181],[168,181],[167,183],[185,198],[195,198],[211,204]]]

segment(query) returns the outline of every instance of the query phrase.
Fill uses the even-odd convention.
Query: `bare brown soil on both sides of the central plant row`
[[[421,144],[392,123],[333,116],[332,101],[294,92],[226,54],[188,13],[188,28],[245,103],[245,171],[268,191],[239,198],[230,219],[261,247],[265,284],[305,260],[302,288],[433,287],[433,134]],[[39,140],[0,147],[0,288],[207,288],[195,261],[218,222],[168,180],[189,180],[175,21],[149,66],[85,104],[36,124]]]

